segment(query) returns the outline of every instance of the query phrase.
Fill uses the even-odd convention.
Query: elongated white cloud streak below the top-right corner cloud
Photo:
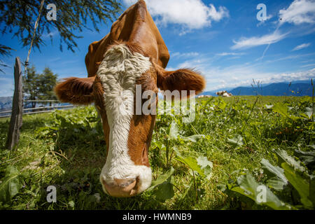
[[[281,34],[279,31],[274,31],[272,34],[267,34],[265,36],[253,36],[249,38],[240,38],[239,41],[234,41],[235,45],[232,45],[231,49],[246,49],[253,48],[259,45],[268,45],[271,43],[276,43],[281,41],[286,37],[287,34]]]

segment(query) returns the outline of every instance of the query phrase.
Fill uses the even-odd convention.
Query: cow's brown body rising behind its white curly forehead
[[[138,45],[141,47],[143,55],[150,55],[153,62],[163,68],[167,66],[169,61],[167,46],[150,13],[148,13],[146,2],[143,0],[125,10],[118,20],[113,23],[109,34],[104,36],[102,40],[90,44],[85,56],[85,65],[89,77],[96,76],[99,68],[98,63],[104,59],[104,53],[109,50],[111,45],[116,43],[127,43],[127,45],[130,43],[130,50],[132,51],[134,51],[132,48]],[[139,52],[138,50],[135,51]]]

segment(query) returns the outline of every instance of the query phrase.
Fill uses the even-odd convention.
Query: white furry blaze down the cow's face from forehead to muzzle
[[[139,180],[138,193],[151,186],[151,168],[134,165],[128,154],[130,121],[134,112],[137,78],[151,67],[148,57],[132,54],[126,45],[114,45],[106,51],[97,76],[104,88],[104,105],[109,123],[109,152],[100,176],[111,184],[115,179]],[[106,189],[103,186],[104,191]]]

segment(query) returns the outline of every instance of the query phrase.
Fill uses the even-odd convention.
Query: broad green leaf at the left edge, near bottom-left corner
[[[0,185],[0,202],[8,202],[19,193],[22,183],[20,174],[15,167],[6,168],[6,177]]]

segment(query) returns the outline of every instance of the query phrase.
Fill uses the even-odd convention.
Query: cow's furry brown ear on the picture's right
[[[206,87],[206,81],[200,73],[193,71],[192,69],[179,69],[176,71],[165,71],[158,64],[154,64],[155,71],[157,71],[157,83],[160,90],[187,90],[189,96],[190,90],[195,90],[195,94],[200,94],[204,87]]]

